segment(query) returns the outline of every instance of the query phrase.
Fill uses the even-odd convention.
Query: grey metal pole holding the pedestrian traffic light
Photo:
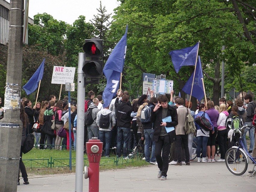
[[[77,70],[77,150],[75,168],[75,192],[83,191],[83,171],[84,171],[84,66],[85,53],[79,53]]]

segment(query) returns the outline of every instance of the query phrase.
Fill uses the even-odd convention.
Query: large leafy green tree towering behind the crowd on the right
[[[253,1],[250,1],[252,3]],[[248,24],[251,34],[255,30],[255,14],[251,8],[236,1],[242,17],[250,11]],[[254,3],[255,4],[255,3]],[[206,77],[211,80],[214,102],[220,95],[220,63],[225,59],[226,71],[239,74],[241,66],[255,61],[255,36],[245,35],[244,23],[236,17],[233,1],[190,1],[190,0],[126,0],[116,9],[111,30],[114,38],[123,34],[129,25],[126,66],[133,73],[141,72],[166,74],[168,79],[179,82],[181,90],[193,71],[182,67],[174,72],[168,53],[171,50],[189,47],[201,41],[199,55]],[[253,12],[253,13],[252,13]],[[224,55],[221,47],[225,45]],[[214,71],[210,69],[215,69]],[[128,74],[127,74],[128,75]],[[127,77],[129,78],[129,77]],[[132,77],[131,77],[132,78]],[[140,78],[134,84],[138,84]],[[177,92],[177,91],[176,91]],[[218,102],[218,101],[217,101]]]

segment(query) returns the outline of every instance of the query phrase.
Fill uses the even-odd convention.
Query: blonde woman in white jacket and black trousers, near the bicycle
[[[220,115],[217,121],[217,130],[218,130],[218,145],[221,151],[221,158],[217,162],[225,161],[225,154],[227,152],[227,134],[228,130],[225,125],[226,119],[228,117],[227,106],[222,103],[220,105]]]

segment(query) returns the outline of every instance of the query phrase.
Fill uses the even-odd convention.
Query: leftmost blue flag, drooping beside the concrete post
[[[33,93],[38,88],[39,81],[43,78],[44,74],[44,61],[45,59],[35,71],[34,75],[32,75],[32,77],[26,83],[26,85],[23,86],[23,89],[26,91],[27,95]]]

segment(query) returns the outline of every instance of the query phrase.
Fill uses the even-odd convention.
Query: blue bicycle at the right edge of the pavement
[[[227,166],[227,169],[233,173],[234,175],[243,175],[247,168],[248,168],[248,157],[250,160],[254,163],[254,167],[252,169],[251,175],[253,175],[256,172],[256,169],[254,170],[256,166],[256,158],[252,157],[249,152],[246,150],[243,142],[242,142],[242,129],[245,127],[254,127],[254,126],[242,126],[242,128],[239,128],[240,138],[239,142],[236,142],[236,145],[232,148],[228,149],[225,155],[225,163]]]

